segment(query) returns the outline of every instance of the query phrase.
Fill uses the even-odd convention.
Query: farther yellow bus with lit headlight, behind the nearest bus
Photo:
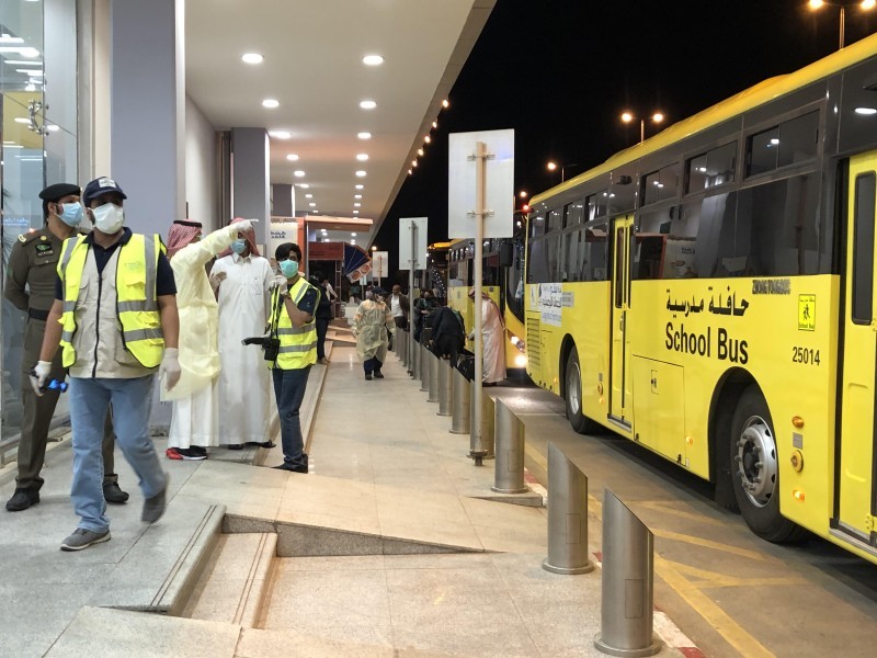
[[[475,322],[469,298],[474,285],[475,241],[453,240],[448,250],[447,305],[463,316],[466,332]],[[525,376],[527,364],[524,336],[524,239],[493,238],[485,240],[482,290],[497,303],[505,325],[505,370],[509,378]],[[472,350],[467,339],[466,348]]]

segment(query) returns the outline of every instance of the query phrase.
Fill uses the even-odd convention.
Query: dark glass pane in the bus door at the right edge
[[[874,318],[874,204],[873,173],[856,177],[853,253],[853,321],[869,325]]]

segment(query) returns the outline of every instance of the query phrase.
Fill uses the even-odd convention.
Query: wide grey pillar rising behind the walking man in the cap
[[[184,0],[111,3],[113,178],[127,194],[125,224],[167,235],[185,217]]]

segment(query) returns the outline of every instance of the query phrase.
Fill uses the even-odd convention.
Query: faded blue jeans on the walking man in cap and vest
[[[104,421],[110,404],[116,444],[140,480],[145,498],[166,486],[164,472],[149,438],[153,375],[134,379],[70,378],[70,424],[73,429],[73,483],[70,499],[81,519],[79,527],[92,532],[110,530],[103,498]]]

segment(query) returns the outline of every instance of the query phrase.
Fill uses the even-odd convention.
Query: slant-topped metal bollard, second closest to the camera
[[[588,478],[554,443],[548,443],[548,557],[554,574],[588,574]]]

